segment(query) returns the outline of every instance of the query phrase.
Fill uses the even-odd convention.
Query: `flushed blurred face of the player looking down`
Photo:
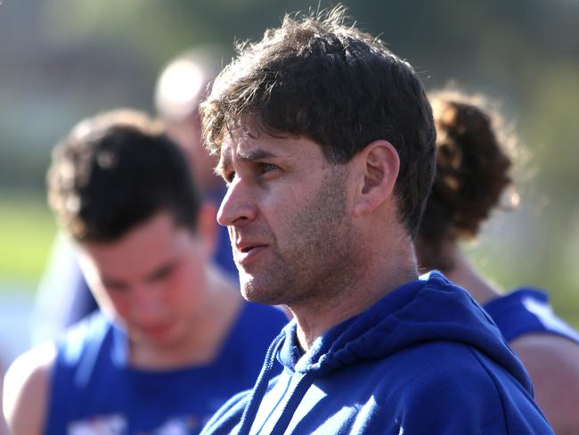
[[[199,236],[161,212],[118,241],[81,243],[80,251],[99,305],[125,324],[135,345],[186,341],[205,296]]]

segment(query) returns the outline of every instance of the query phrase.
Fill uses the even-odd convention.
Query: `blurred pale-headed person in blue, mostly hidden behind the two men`
[[[215,209],[224,196],[224,182],[215,175],[211,157],[201,139],[199,104],[213,78],[221,70],[224,54],[219,46],[203,45],[181,53],[159,73],[154,100],[167,134],[179,144],[192,165],[200,195]],[[227,229],[217,227],[214,261],[237,282]],[[38,287],[32,322],[32,342],[40,344],[59,337],[97,308],[77,262],[77,252],[67,237],[59,234],[53,254]]]

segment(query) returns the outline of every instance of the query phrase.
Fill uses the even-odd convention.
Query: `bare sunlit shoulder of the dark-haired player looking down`
[[[6,372],[3,409],[12,435],[42,433],[56,357],[45,343],[18,357]]]

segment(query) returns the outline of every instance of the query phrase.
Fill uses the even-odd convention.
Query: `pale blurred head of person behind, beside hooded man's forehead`
[[[155,86],[157,113],[167,126],[167,134],[187,154],[202,193],[223,186],[213,172],[216,158],[203,146],[199,114],[199,105],[221,70],[222,62],[223,54],[218,46],[193,48],[168,62]]]

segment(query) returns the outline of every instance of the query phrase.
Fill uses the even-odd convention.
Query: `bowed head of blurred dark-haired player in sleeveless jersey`
[[[183,340],[205,298],[214,226],[160,124],[126,110],[83,120],[54,149],[47,182],[101,308],[135,341]]]

